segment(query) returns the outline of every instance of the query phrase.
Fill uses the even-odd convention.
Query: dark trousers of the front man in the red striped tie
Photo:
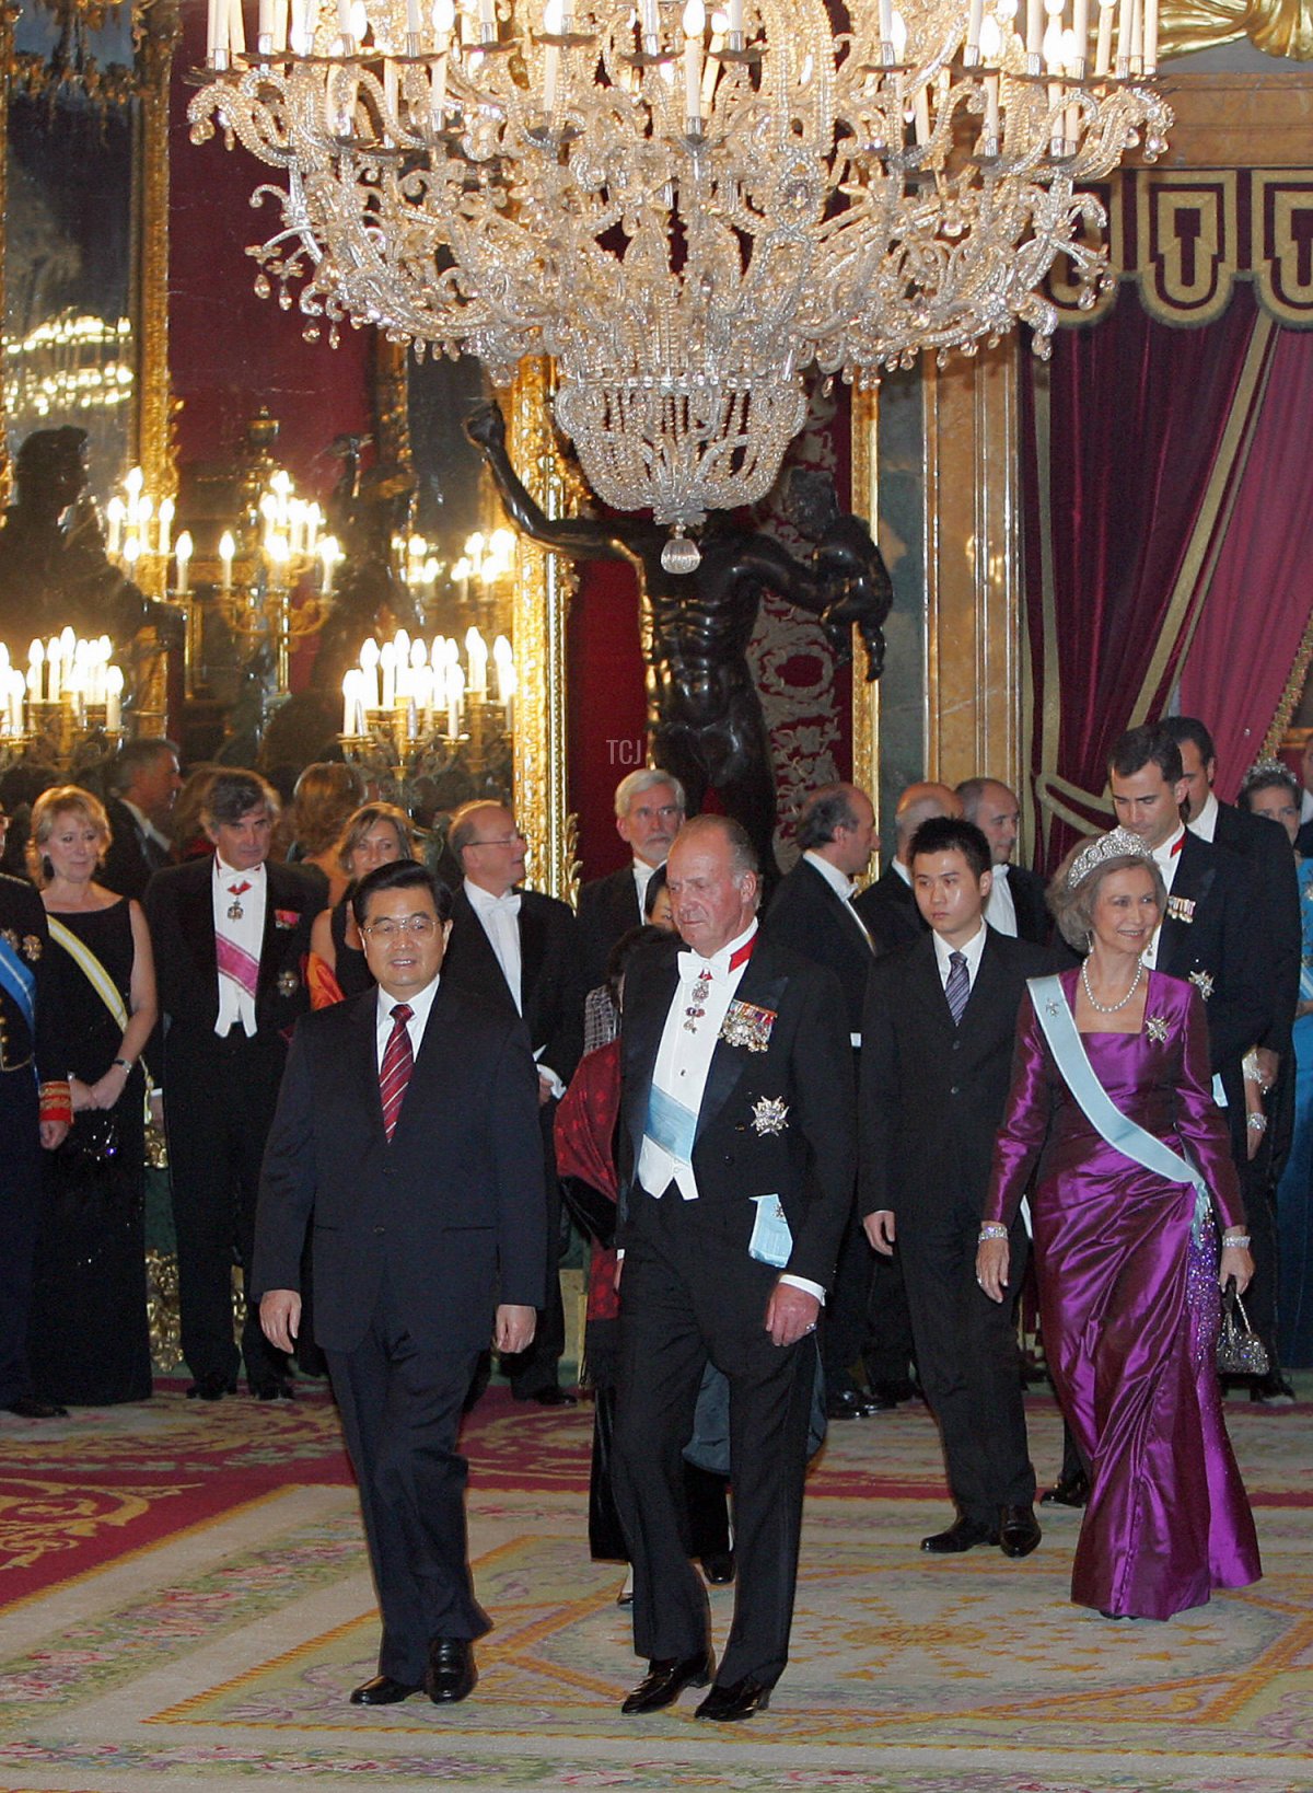
[[[489,1630],[469,1574],[466,1460],[457,1454],[478,1352],[419,1347],[383,1289],[362,1343],[326,1356],[383,1617],[378,1673],[419,1687],[433,1637]]]

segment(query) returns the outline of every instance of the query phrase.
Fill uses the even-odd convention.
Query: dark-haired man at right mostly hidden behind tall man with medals
[[[1274,828],[1263,816],[1250,816],[1234,803],[1218,801],[1213,784],[1218,773],[1213,735],[1193,715],[1168,715],[1159,724],[1180,749],[1180,769],[1188,785],[1189,832],[1227,852],[1238,853],[1249,866],[1259,914],[1254,932],[1263,941],[1259,968],[1265,975],[1268,1017],[1259,1029],[1257,1047],[1259,1085],[1266,1094],[1266,1115],[1249,1115],[1252,1153],[1241,1167],[1245,1189],[1245,1221],[1252,1239],[1254,1280],[1245,1291],[1245,1309],[1261,1338],[1275,1345],[1277,1338],[1277,1208],[1275,1182],[1290,1149],[1293,1126],[1295,1047],[1292,1029],[1299,1004],[1299,961],[1304,947],[1299,918],[1299,879],[1295,857],[1283,828]],[[1256,1126],[1268,1122],[1266,1126]],[[1295,1391],[1272,1357],[1268,1373],[1252,1390],[1256,1400],[1274,1406],[1293,1402]]]

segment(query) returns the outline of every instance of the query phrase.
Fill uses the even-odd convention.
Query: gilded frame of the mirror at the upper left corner
[[[0,217],[7,208],[9,97],[16,84],[32,82],[32,70],[14,52],[18,7],[0,0]],[[95,23],[104,14],[99,0],[57,0],[56,14],[84,16]],[[131,420],[131,455],[145,473],[147,491],[174,497],[177,470],[172,441],[172,396],[168,384],[168,79],[181,34],[179,0],[133,0],[134,68],[124,93],[140,106],[133,160],[133,319],[136,325],[136,403]],[[61,79],[77,75],[63,72]],[[118,84],[104,84],[118,99]],[[0,231],[0,316],[4,316],[5,240]],[[9,463],[0,436],[4,488]]]

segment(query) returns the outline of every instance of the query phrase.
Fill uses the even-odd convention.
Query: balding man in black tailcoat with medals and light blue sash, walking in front
[[[708,1361],[729,1381],[738,1585],[699,1718],[751,1718],[788,1660],[824,1293],[853,1201],[853,1049],[833,972],[758,934],[743,828],[697,816],[666,864],[681,941],[625,977],[614,1486],[634,1562],[625,1700],[656,1712],[715,1671],[688,1560],[682,1447]]]

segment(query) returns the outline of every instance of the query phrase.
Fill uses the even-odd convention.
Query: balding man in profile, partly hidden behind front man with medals
[[[772,941],[828,965],[838,977],[853,1051],[860,1054],[867,972],[880,950],[853,907],[853,879],[867,870],[880,845],[871,798],[856,785],[822,785],[804,801],[795,839],[802,857],[777,886],[761,929]],[[853,1379],[853,1364],[867,1343],[871,1275],[871,1246],[854,1207],[820,1321],[820,1364],[831,1420],[867,1418],[896,1406],[888,1395],[867,1393]]]

